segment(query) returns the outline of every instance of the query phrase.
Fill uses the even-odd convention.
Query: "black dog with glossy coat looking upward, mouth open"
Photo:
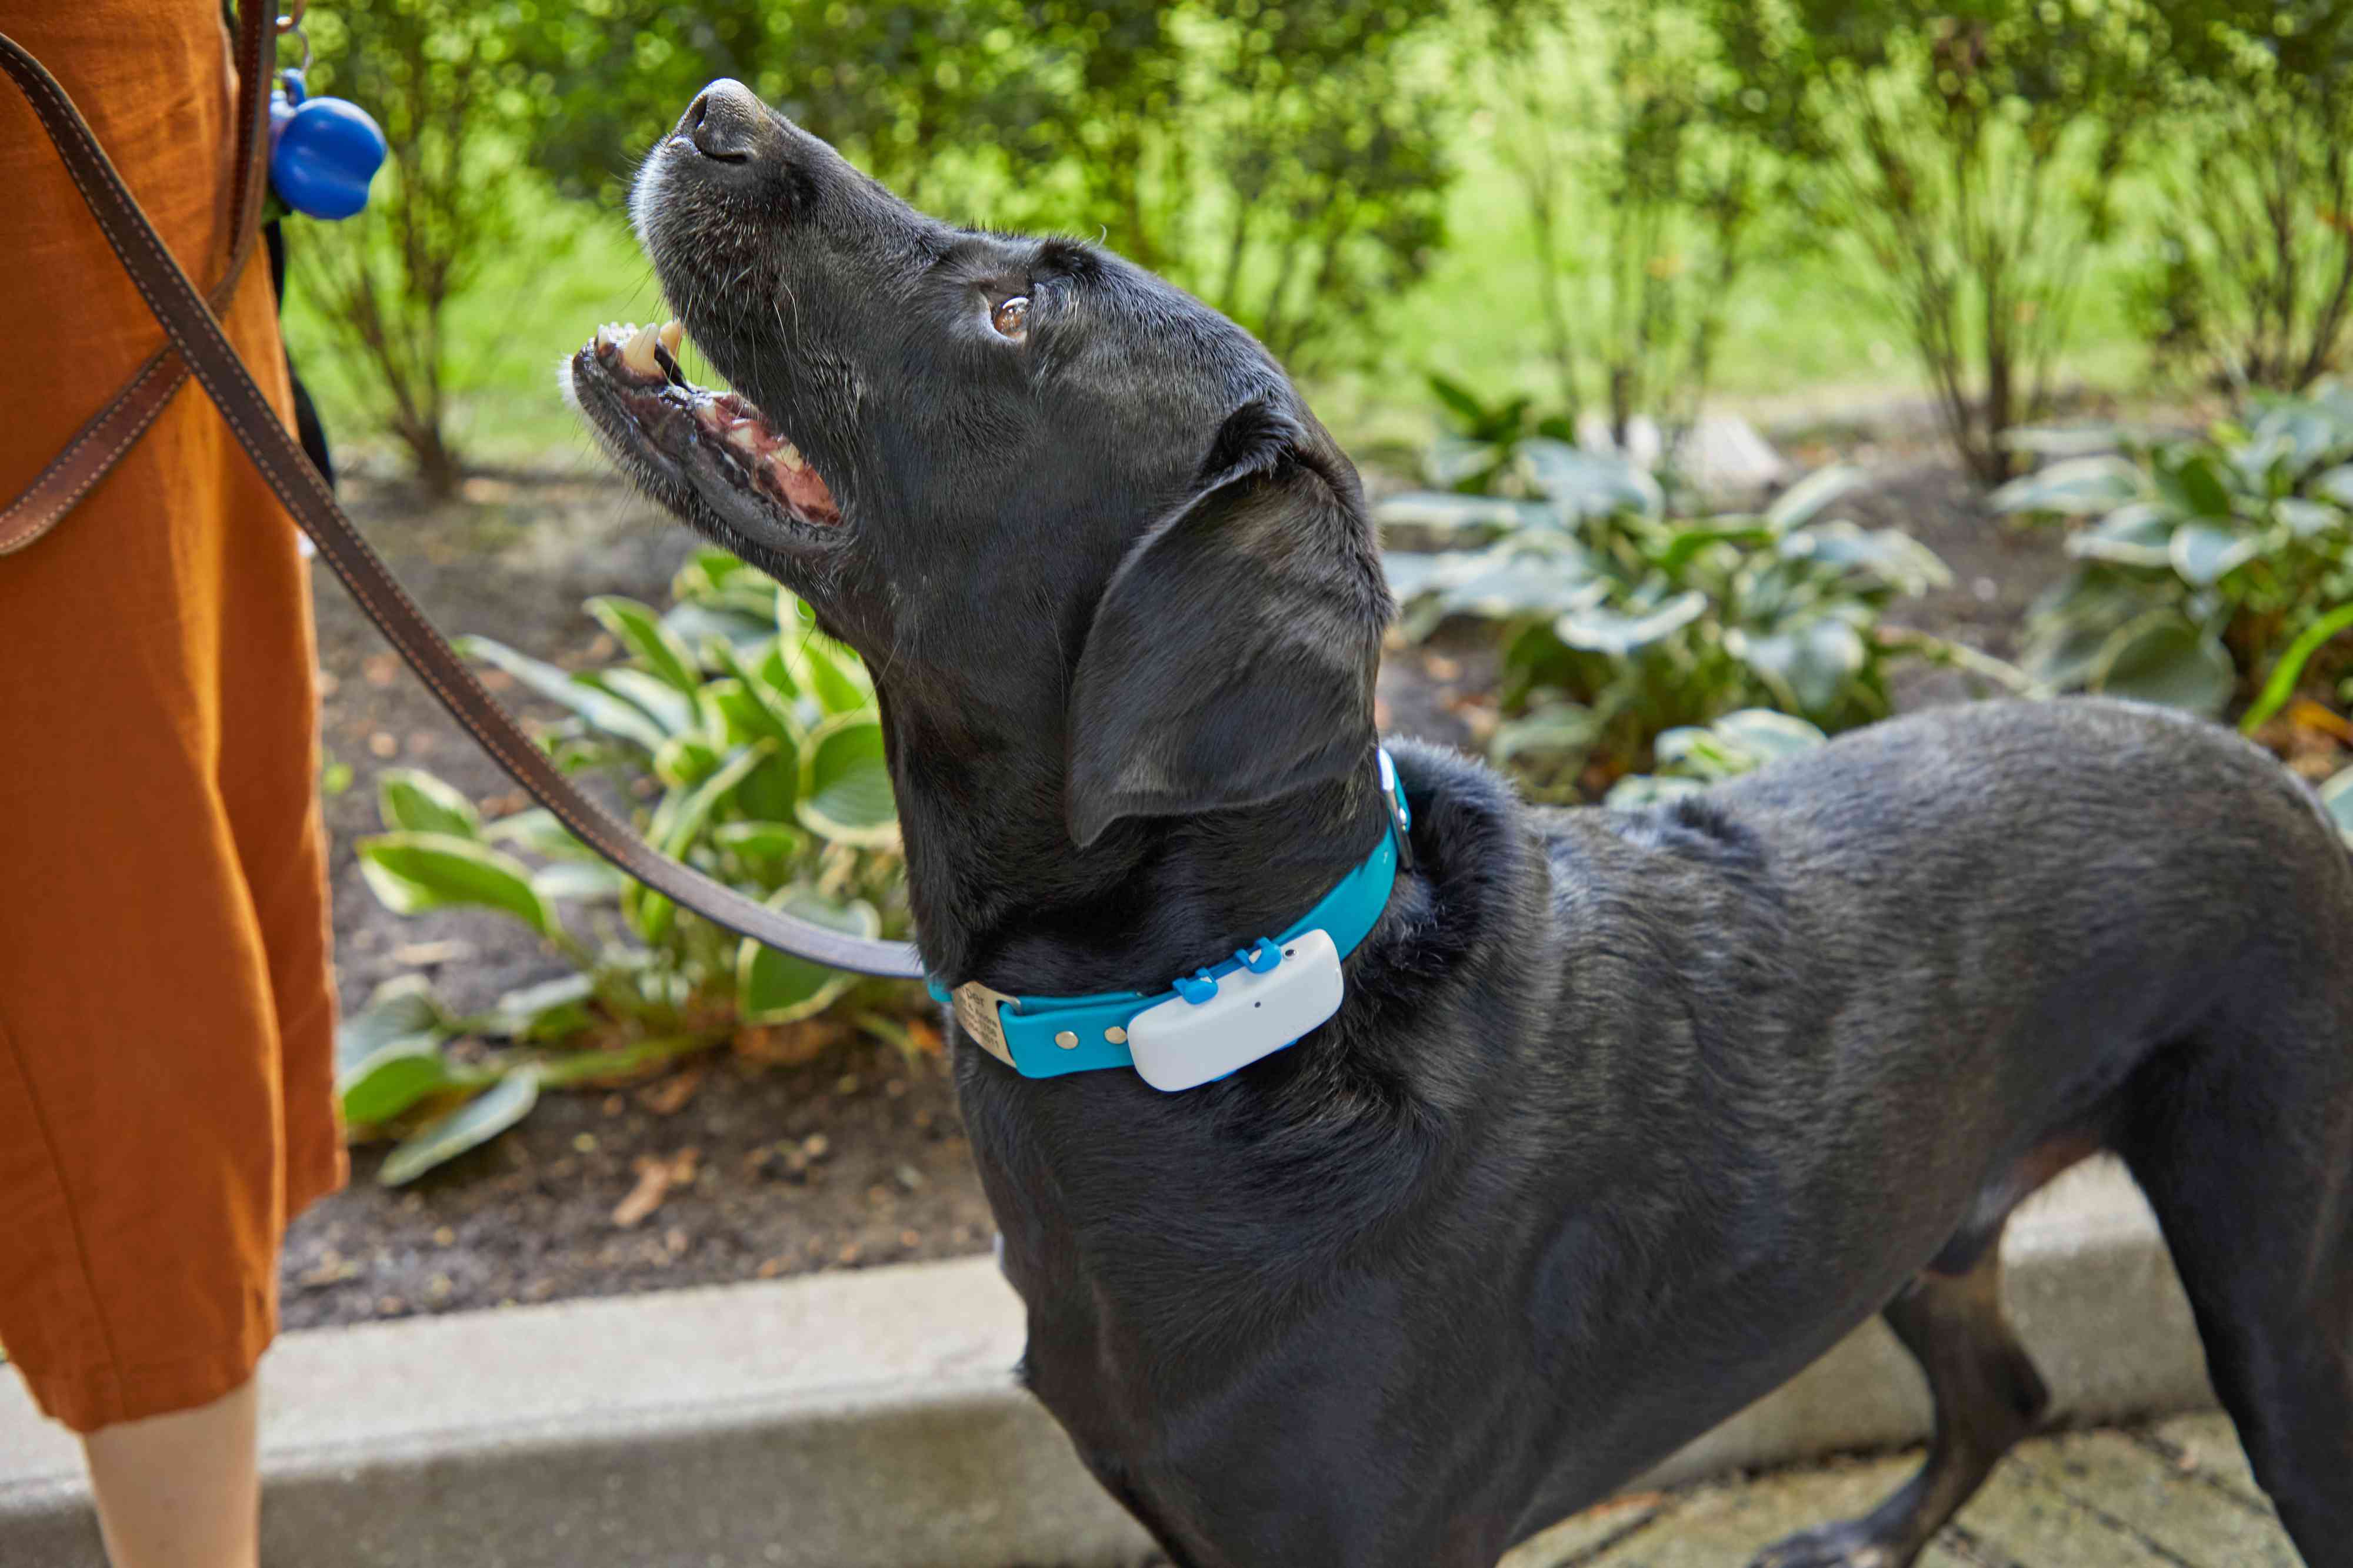
[[[1247,334],[734,82],[635,219],[755,402],[652,331],[572,393],[866,656],[936,976],[1158,992],[1381,842],[1372,529]],[[1765,1561],[1906,1563],[2045,1403],[2005,1215],[2115,1150],[2304,1559],[2353,1563],[2353,858],[2273,762],[2092,701],[1633,813],[1398,757],[1412,865],[1292,1048],[1165,1095],[960,1032],[1028,1385],[1169,1556],[1492,1563],[1885,1312],[1932,1458]]]

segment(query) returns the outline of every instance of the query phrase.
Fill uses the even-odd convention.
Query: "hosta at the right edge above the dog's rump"
[[[2024,663],[2054,689],[2219,715],[2353,597],[2353,388],[2273,397],[2193,440],[2026,442],[2057,461],[1995,505],[2080,524],[2075,571],[2028,611]],[[2313,675],[2341,663],[2322,656]]]

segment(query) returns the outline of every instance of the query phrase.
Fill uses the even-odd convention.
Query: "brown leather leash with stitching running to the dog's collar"
[[[224,303],[228,299],[226,292],[235,284],[245,254],[252,249],[252,226],[261,212],[259,188],[264,183],[264,153],[268,148],[264,42],[271,31],[266,21],[271,7],[259,0],[245,0],[245,7],[240,9],[247,12],[238,31],[238,59],[245,80],[240,82],[238,186],[233,212],[240,221],[240,235],[231,275],[221,284],[219,294]],[[68,447],[68,454],[59,458],[68,465],[66,477],[49,489],[49,505],[54,505],[54,515],[49,515],[35,534],[45,531],[56,517],[61,517],[73,501],[87,494],[89,484],[96,482],[96,475],[106,473],[111,465],[111,456],[104,456],[108,447],[120,449],[136,440],[139,433],[153,423],[155,414],[162,411],[165,400],[179,386],[179,376],[193,374],[221,411],[221,418],[228,421],[238,444],[245,447],[245,454],[278,494],[278,501],[282,501],[294,522],[301,524],[301,531],[311,536],[320,557],[339,578],[344,578],[344,588],[348,588],[351,597],[360,602],[367,618],[376,623],[376,630],[381,630],[409,668],[416,670],[440,705],[449,710],[449,717],[454,717],[466,733],[471,733],[475,743],[480,743],[482,750],[487,750],[499,766],[532,795],[532,799],[553,811],[558,820],[588,844],[588,849],[605,856],[612,865],[656,893],[664,893],[673,903],[767,947],[826,964],[828,969],[847,969],[866,976],[922,976],[922,959],[908,943],[880,943],[864,936],[849,936],[845,931],[831,931],[814,922],[786,914],[784,910],[755,903],[744,893],[736,893],[734,889],[696,872],[694,867],[671,860],[631,832],[605,806],[581,795],[572,780],[558,773],[548,755],[541,752],[539,745],[522,733],[515,719],[499,708],[489,691],[482,689],[482,684],[442,639],[442,635],[433,630],[433,623],[416,609],[351,520],[344,517],[344,508],[334,503],[334,496],[318,477],[318,470],[311,468],[311,461],[301,454],[301,447],[296,447],[285,423],[280,423],[268,397],[264,397],[261,388],[254,386],[245,362],[238,360],[238,350],[231,348],[219,317],[214,317],[212,308],[207,308],[202,294],[195,292],[195,284],[188,282],[188,275],[181,270],[172,252],[165,249],[155,228],[146,221],[146,214],[139,212],[139,202],[122,186],[122,176],[115,174],[113,162],[106,158],[96,136],[92,136],[89,122],[82,120],[73,99],[66,96],[66,89],[59,87],[56,78],[52,78],[42,63],[7,33],[0,33],[0,68],[7,71],[24,96],[33,103],[42,127],[49,132],[49,141],[56,143],[56,153],[66,162],[66,172],[82,193],[82,202],[99,221],[99,230],[122,261],[122,270],[129,273],[129,280],[139,287],[139,294],[146,299],[155,322],[169,336],[172,348],[179,350],[181,362],[179,367],[172,364],[172,350],[155,355],[155,360],[151,360],[146,369],[134,376],[132,386],[82,430],[82,437],[75,437],[82,456],[73,456],[75,449]],[[139,393],[141,386],[148,390]],[[125,400],[132,402],[127,404]],[[125,407],[132,407],[134,411],[118,414],[118,409]],[[92,437],[94,430],[101,435]],[[99,461],[101,456],[104,461]],[[94,475],[87,473],[89,463],[96,463]],[[52,463],[42,480],[35,482],[35,489],[47,484],[54,473],[59,473],[56,463]],[[9,515],[14,515],[14,510]],[[19,548],[24,543],[31,543],[31,538],[16,541]],[[5,548],[12,545],[5,545],[5,536],[0,536],[0,550]]]

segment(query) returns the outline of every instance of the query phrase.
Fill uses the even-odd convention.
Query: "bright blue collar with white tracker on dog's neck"
[[[1092,1072],[1096,1067],[1136,1067],[1146,1081],[1172,1088],[1224,1077],[1261,1056],[1271,1056],[1299,1039],[1339,1009],[1339,959],[1348,957],[1381,919],[1388,907],[1391,886],[1398,879],[1398,853],[1412,813],[1405,806],[1405,790],[1398,785],[1398,766],[1388,752],[1381,755],[1381,795],[1388,802],[1388,832],[1374,844],[1355,870],[1339,879],[1313,910],[1292,922],[1275,938],[1259,938],[1257,945],[1235,952],[1224,964],[1214,964],[1193,976],[1174,980],[1169,990],[1101,992],[1094,997],[1007,997],[979,980],[967,980],[953,992],[936,978],[927,980],[932,999],[955,1009],[955,1020],[984,1051],[1026,1079],[1052,1079],[1064,1072]],[[1311,933],[1329,938],[1301,940]],[[1297,957],[1294,957],[1297,954]],[[1329,976],[1299,973],[1322,964]],[[1224,1001],[1219,997],[1224,994]],[[1264,994],[1273,1011],[1252,1001],[1252,1013],[1233,1020],[1221,1018],[1242,1006],[1245,997]],[[1155,1009],[1160,1009],[1155,1013]],[[1184,1039],[1181,1053],[1202,1053],[1191,1065],[1179,1065],[1179,1081],[1162,1081],[1165,1070],[1153,1063],[1139,1065],[1129,1051],[1129,1030],[1141,1013],[1153,1013],[1153,1025],[1162,1039],[1198,1032],[1172,1032],[1165,1025],[1202,1023],[1209,1039],[1195,1046]],[[1282,1018],[1287,1027],[1266,1032],[1266,1025]],[[1292,1032],[1297,1030],[1297,1032]],[[1252,1037],[1257,1032],[1257,1037]],[[1141,1046],[1141,1041],[1139,1041]]]

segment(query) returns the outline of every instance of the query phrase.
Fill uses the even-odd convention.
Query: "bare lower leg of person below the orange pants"
[[[256,1568],[259,1396],[247,1378],[209,1406],[82,1439],[113,1568]]]

